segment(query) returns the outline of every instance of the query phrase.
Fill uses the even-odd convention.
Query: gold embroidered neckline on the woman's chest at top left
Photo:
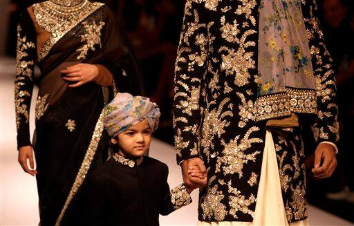
[[[61,6],[53,1],[35,3],[32,8],[35,19],[41,28],[52,33],[52,36],[44,43],[38,59],[41,61],[48,55],[53,46],[89,15],[104,6],[103,3],[82,1],[77,6]]]

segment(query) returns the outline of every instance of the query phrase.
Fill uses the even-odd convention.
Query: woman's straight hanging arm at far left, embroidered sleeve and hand
[[[21,167],[32,176],[37,173],[34,168],[33,153],[30,142],[30,100],[33,90],[35,70],[37,33],[32,20],[25,10],[17,26],[17,57],[15,77],[15,113],[17,125],[18,161]],[[27,164],[30,160],[30,169]]]

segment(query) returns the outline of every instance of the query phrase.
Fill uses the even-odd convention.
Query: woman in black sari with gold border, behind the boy
[[[36,3],[21,15],[17,29],[19,162],[26,172],[37,174],[41,225],[60,225],[86,173],[106,160],[104,103],[117,90],[140,95],[142,86],[113,14],[103,3]],[[34,77],[35,65],[41,70],[39,77]],[[31,144],[28,121],[34,84],[39,94]]]

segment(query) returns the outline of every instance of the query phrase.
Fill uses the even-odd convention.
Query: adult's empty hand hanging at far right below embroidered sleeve
[[[322,166],[320,166],[321,160],[323,160]],[[328,178],[335,171],[335,167],[337,167],[335,148],[331,144],[319,144],[315,151],[315,163],[312,169],[315,177]]]

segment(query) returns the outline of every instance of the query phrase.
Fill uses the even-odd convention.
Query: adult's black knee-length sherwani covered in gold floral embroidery
[[[313,0],[301,3],[317,83],[317,142],[338,141],[335,81]],[[177,161],[200,157],[208,171],[199,220],[252,221],[265,142],[265,121],[279,109],[255,104],[259,0],[189,0],[176,59],[174,129]],[[301,104],[296,100],[290,104]],[[268,105],[269,106],[266,106]],[[300,116],[300,119],[303,120]],[[288,221],[307,217],[301,126],[272,132]]]

